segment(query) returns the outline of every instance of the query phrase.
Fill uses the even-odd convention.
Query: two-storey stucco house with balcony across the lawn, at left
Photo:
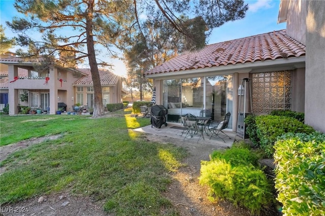
[[[39,72],[33,67],[35,62],[22,61],[19,57],[2,58],[0,63],[4,70],[8,67],[8,77],[0,80],[0,90],[2,97],[8,98],[9,115],[18,114],[18,105],[40,107],[44,111],[49,107],[50,114],[55,114],[61,105],[66,111],[72,111],[76,103],[93,107],[94,91],[89,68],[50,67]],[[104,106],[120,103],[122,78],[108,70],[100,69],[99,72]],[[21,101],[22,94],[28,95],[28,101]]]

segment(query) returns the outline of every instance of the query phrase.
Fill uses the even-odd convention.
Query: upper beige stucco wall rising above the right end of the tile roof
[[[306,44],[307,3],[305,0],[290,1],[286,20],[287,34],[302,44]]]

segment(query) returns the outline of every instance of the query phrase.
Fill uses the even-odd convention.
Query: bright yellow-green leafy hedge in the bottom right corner
[[[287,133],[276,141],[275,188],[285,215],[325,215],[325,134]]]

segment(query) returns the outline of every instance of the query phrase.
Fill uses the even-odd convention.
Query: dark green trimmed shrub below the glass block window
[[[312,133],[314,129],[302,122],[285,116],[258,116],[255,119],[259,147],[271,157],[277,137],[287,132]]]

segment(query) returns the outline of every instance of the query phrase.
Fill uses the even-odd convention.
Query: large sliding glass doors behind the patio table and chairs
[[[211,112],[214,122],[221,122],[233,110],[233,76],[164,80],[163,101],[168,108],[168,122],[180,123],[182,115],[199,116],[204,109]]]

